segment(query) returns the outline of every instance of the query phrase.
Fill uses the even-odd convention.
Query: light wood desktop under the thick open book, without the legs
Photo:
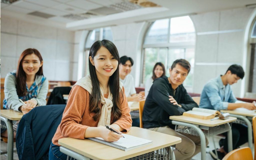
[[[171,120],[176,120],[176,121],[181,121],[181,122],[187,122],[187,123],[192,123],[192,124],[198,124],[198,125],[203,125],[203,126],[207,126],[207,127],[214,127],[217,125],[221,125],[221,124],[225,124],[225,123],[229,123],[229,122],[233,122],[235,120],[237,120],[237,118],[235,117],[229,117],[226,120],[202,120],[199,118],[193,118],[193,117],[188,117],[188,116],[184,116],[184,115],[179,115],[179,116],[170,116],[169,117]]]

